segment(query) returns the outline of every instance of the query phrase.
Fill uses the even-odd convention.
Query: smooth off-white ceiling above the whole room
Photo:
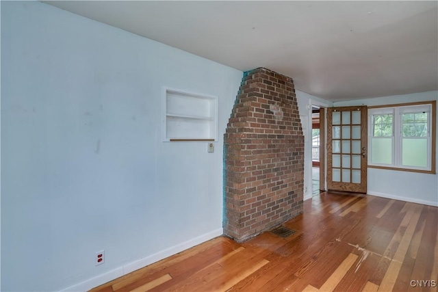
[[[45,1],[329,101],[438,90],[438,1]]]

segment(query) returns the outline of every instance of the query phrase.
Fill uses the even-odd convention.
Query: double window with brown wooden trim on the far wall
[[[435,173],[436,102],[368,109],[368,165]]]

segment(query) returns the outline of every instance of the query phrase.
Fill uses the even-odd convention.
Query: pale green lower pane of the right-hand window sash
[[[427,139],[403,139],[402,165],[427,167]]]

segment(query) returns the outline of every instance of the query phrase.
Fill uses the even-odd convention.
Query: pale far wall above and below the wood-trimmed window
[[[389,105],[417,101],[438,101],[438,92],[419,92],[361,99],[359,101],[344,101],[335,103],[335,107]],[[438,123],[435,129],[438,129]],[[438,151],[436,157],[438,157]],[[438,206],[438,176],[437,174],[368,168],[368,194]]]

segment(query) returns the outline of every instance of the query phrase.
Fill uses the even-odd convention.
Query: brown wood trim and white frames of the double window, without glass
[[[422,101],[422,102],[417,102],[417,103],[396,103],[393,105],[374,105],[371,107],[368,107],[368,109],[385,109],[387,107],[392,107],[392,108],[396,108],[396,107],[411,107],[411,106],[415,106],[415,105],[430,105],[430,170],[422,170],[422,169],[417,169],[417,168],[410,168],[410,167],[398,167],[398,166],[382,166],[382,165],[373,165],[370,164],[370,156],[368,156],[368,168],[378,168],[378,169],[383,169],[383,170],[399,170],[399,171],[403,171],[403,172],[420,172],[420,173],[425,173],[425,174],[436,174],[436,144],[437,144],[437,101]],[[396,116],[394,115],[394,119],[396,118]],[[368,119],[370,119],[370,114],[368,114]],[[401,126],[401,124],[400,124]],[[399,127],[400,127],[399,126]],[[393,131],[395,131],[395,127],[396,127],[396,123],[394,121],[394,129]],[[370,139],[370,135],[372,135],[372,133],[370,133],[370,124],[368,124],[368,153],[370,153],[370,143],[371,143],[371,139]],[[400,144],[400,140],[402,137],[401,136],[396,136],[394,135],[394,149],[393,149],[393,165],[396,161],[396,148],[401,148],[401,144]]]

